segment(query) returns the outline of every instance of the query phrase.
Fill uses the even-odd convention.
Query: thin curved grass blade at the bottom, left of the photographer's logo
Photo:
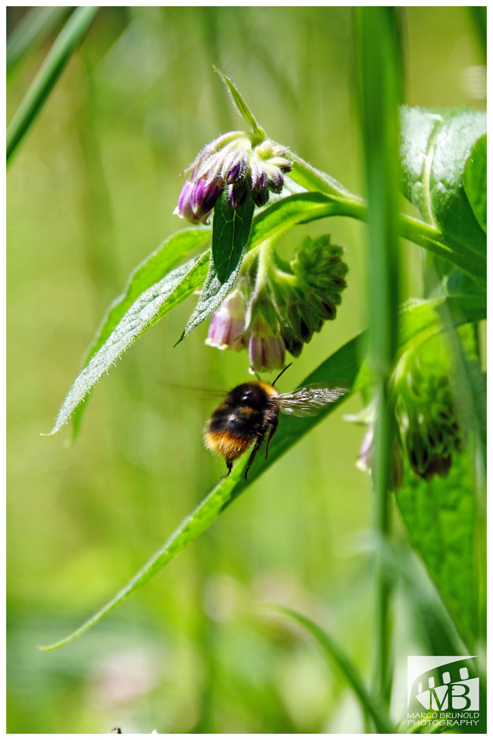
[[[339,647],[337,642],[333,640],[327,632],[322,630],[319,625],[316,625],[316,623],[312,622],[311,619],[308,619],[307,616],[303,616],[294,609],[283,606],[273,606],[272,608],[279,611],[279,613],[290,616],[316,639],[330,662],[336,665],[345,676],[347,683],[350,684],[350,687],[353,689],[363,711],[369,713],[372,717],[375,722],[377,732],[389,734],[394,733],[395,730],[392,727],[392,722],[387,716],[384,707],[378,703],[378,699],[368,693],[358,670],[344,653],[344,650]]]

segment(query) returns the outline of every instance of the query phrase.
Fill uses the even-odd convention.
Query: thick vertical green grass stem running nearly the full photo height
[[[370,366],[375,374],[378,397],[373,462],[374,526],[381,547],[390,538],[389,488],[394,430],[387,388],[398,344],[398,104],[402,80],[396,13],[392,7],[358,7],[355,11],[368,192]],[[384,707],[388,707],[391,586],[380,552],[375,566],[373,693]]]

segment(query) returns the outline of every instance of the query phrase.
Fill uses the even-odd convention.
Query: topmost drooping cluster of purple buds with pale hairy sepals
[[[174,215],[192,223],[208,223],[211,211],[226,188],[229,206],[236,210],[250,195],[264,206],[271,192],[279,193],[291,169],[288,149],[271,139],[232,131],[208,144],[186,169],[191,175],[178,198]]]

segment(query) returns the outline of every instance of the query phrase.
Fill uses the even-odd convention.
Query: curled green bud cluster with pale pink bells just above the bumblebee
[[[336,318],[347,265],[329,236],[306,238],[286,263],[263,244],[245,260],[237,287],[211,317],[208,345],[248,348],[255,372],[281,369],[286,350],[298,357],[313,332]]]

